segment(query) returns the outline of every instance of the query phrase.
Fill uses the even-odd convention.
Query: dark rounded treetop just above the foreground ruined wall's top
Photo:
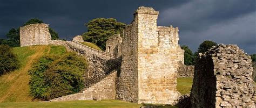
[[[206,40],[202,44],[199,45],[198,53],[204,53],[208,49],[212,48],[212,46],[217,46],[217,43],[210,41],[210,40]]]

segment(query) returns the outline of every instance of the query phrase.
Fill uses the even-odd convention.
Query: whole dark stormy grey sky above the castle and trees
[[[31,18],[50,24],[63,39],[86,32],[84,24],[93,18],[115,18],[130,24],[138,6],[159,11],[159,26],[179,27],[180,45],[193,52],[201,42],[211,40],[256,53],[255,0],[0,0],[0,38]]]

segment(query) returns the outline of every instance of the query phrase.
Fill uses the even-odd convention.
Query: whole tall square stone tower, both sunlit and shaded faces
[[[178,28],[157,26],[159,12],[139,7],[125,28],[117,98],[136,103],[172,104],[177,100]]]

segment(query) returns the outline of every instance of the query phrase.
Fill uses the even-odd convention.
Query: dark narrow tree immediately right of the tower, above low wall
[[[188,46],[181,46],[181,49],[184,49],[184,64],[185,65],[193,65],[194,61],[193,61],[193,53],[190,50],[190,48],[188,48]]]

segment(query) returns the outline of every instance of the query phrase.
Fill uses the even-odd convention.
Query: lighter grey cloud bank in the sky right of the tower
[[[191,1],[166,8],[161,24],[180,30],[180,44],[196,51],[204,40],[237,44],[245,52],[256,53],[255,1]]]

